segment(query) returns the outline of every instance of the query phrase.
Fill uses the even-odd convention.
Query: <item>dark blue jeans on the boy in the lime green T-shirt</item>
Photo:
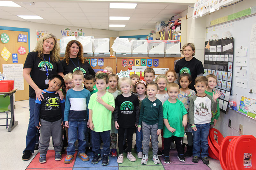
[[[100,138],[103,141],[103,155],[110,153],[110,130],[103,132],[95,132],[92,130],[92,151],[100,154]]]

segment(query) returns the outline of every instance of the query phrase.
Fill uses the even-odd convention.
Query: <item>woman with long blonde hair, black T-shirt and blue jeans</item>
[[[34,122],[35,101],[44,99],[42,93],[45,92],[43,90],[48,88],[49,78],[55,74],[63,77],[60,46],[56,36],[48,33],[38,40],[34,51],[28,53],[23,67],[23,77],[29,84],[29,124],[23,160],[29,160],[31,152],[34,153],[35,149],[37,131]],[[63,99],[63,93],[60,90],[58,93]]]

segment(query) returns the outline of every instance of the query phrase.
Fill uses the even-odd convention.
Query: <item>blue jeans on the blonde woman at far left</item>
[[[34,153],[35,145],[36,145],[36,131],[35,120],[34,120],[34,110],[35,110],[35,101],[34,98],[29,98],[29,123],[28,123],[28,131],[26,136],[26,148],[25,151],[30,151]]]

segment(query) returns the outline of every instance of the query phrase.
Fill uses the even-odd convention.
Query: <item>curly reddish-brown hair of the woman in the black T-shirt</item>
[[[66,47],[66,51],[65,51],[65,55],[64,55],[64,59],[66,60],[66,64],[68,65],[69,63],[69,53],[70,53],[70,47],[72,46],[72,44],[76,44],[79,47],[79,51],[77,53],[77,57],[80,59],[81,63],[84,64],[84,62],[88,63],[88,60],[84,60],[84,56],[83,56],[83,45],[76,40],[71,40],[68,42],[67,47]]]

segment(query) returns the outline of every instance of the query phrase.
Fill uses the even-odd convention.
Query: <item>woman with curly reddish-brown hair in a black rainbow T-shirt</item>
[[[81,70],[85,75],[95,75],[90,63],[83,56],[83,46],[79,41],[71,40],[68,42],[64,59],[61,60],[64,75]]]

